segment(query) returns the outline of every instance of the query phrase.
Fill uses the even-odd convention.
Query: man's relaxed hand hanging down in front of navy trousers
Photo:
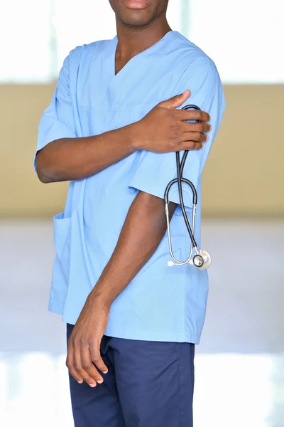
[[[68,341],[66,366],[80,384],[95,387],[104,381],[99,371],[107,374],[107,367],[100,345],[108,319],[109,307],[91,292]]]

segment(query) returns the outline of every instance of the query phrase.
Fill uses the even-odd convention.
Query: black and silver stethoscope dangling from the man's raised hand
[[[197,105],[186,105],[182,108],[182,110],[200,110],[200,107],[197,107]],[[196,122],[200,122],[200,120],[196,120]],[[185,265],[185,264],[191,264],[195,265],[195,267],[200,268],[200,270],[206,270],[211,265],[211,257],[207,251],[204,251],[203,249],[197,248],[197,243],[195,241],[195,215],[196,215],[196,206],[197,206],[197,191],[192,184],[192,181],[189,179],[183,178],[182,172],[183,168],[185,167],[185,160],[187,159],[188,150],[185,150],[182,161],[180,162],[180,152],[176,152],[176,163],[177,163],[177,173],[178,177],[175,179],[172,179],[168,183],[167,188],[165,189],[165,216],[167,218],[167,227],[168,227],[168,243],[170,248],[170,255],[173,258],[173,261],[168,261],[168,266],[172,267],[173,265]],[[180,261],[177,258],[175,258],[175,255],[173,254],[173,246],[172,246],[172,239],[170,236],[170,216],[169,216],[169,209],[168,204],[170,203],[169,195],[170,195],[170,189],[173,186],[173,184],[178,182],[178,193],[180,196],[180,207],[182,209],[182,216],[185,220],[185,225],[187,227],[188,234],[190,235],[191,240],[191,246],[190,246],[190,255],[185,261]],[[185,211],[185,204],[183,201],[183,195],[182,195],[182,182],[189,185],[192,190],[192,227],[190,226],[190,221],[188,221],[187,214]],[[192,252],[195,251],[195,255],[192,257]]]

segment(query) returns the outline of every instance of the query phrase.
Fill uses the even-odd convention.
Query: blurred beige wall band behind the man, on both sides
[[[0,216],[62,211],[67,184],[33,172],[38,121],[54,85],[0,86]],[[204,169],[206,216],[284,216],[284,85],[226,86],[222,128]]]

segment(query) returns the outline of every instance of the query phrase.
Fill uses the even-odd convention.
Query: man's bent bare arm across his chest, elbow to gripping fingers
[[[160,102],[139,122],[102,135],[50,142],[37,154],[38,178],[44,183],[84,179],[138,149],[165,153],[202,148],[207,141],[205,132],[210,130],[207,112],[175,110],[189,96],[187,90]],[[185,120],[202,122],[187,123]]]

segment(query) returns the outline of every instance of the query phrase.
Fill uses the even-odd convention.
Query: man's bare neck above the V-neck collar
[[[171,31],[168,21],[164,17],[143,27],[128,27],[116,19],[116,31],[118,44],[116,56],[123,59],[130,59],[138,53],[157,43],[166,33]]]

